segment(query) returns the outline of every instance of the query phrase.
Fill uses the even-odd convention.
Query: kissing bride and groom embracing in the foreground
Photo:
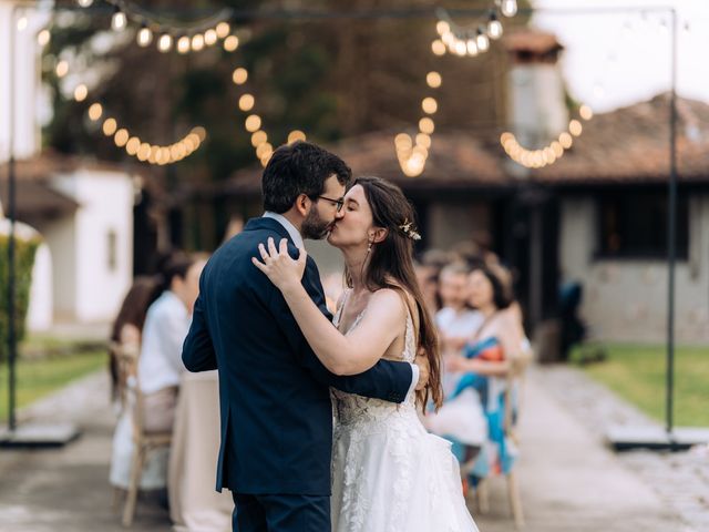
[[[443,397],[411,205],[307,142],[274,152],[261,191],[265,214],[204,268],[183,347],[188,370],[219,370],[233,530],[476,532],[450,443],[417,413]],[[346,265],[333,318],[304,246],[323,237]]]

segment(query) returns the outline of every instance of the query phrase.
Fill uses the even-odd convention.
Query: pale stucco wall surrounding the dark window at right
[[[582,315],[590,336],[616,341],[665,341],[665,260],[594,260],[597,224],[590,197],[562,202],[562,278],[584,284]],[[676,335],[679,342],[709,342],[709,195],[691,198],[689,259],[676,268]]]

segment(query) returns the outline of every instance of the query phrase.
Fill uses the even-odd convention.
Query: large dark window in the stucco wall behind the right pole
[[[625,192],[598,198],[598,256],[667,257],[667,193]],[[677,257],[687,258],[689,209],[687,195],[677,197]]]

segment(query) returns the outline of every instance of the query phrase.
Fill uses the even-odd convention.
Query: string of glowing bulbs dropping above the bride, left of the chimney
[[[444,55],[451,52],[456,57],[475,57],[490,49],[490,41],[502,37],[503,27],[499,16],[514,17],[517,13],[516,0],[496,0],[491,8],[486,19],[481,19],[472,29],[465,29],[452,21],[448,11],[438,9],[439,20],[435,31],[440,39],[434,39],[431,43],[431,51],[434,55]],[[483,21],[485,21],[483,23]],[[431,71],[425,76],[427,85],[430,89],[439,89],[443,83],[443,78],[436,71]],[[432,95],[427,95],[421,101],[421,110],[424,116],[419,120],[419,131],[412,139],[408,133],[399,133],[394,136],[394,151],[401,171],[408,177],[421,175],[425,168],[431,150],[432,135],[435,131],[433,115],[439,109],[438,101]]]

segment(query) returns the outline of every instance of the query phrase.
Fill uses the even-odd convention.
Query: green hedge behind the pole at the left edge
[[[32,283],[32,266],[34,265],[34,254],[40,245],[38,239],[23,241],[16,238],[14,259],[16,259],[16,326],[17,338],[20,341],[24,336],[24,320],[27,317],[27,308],[30,299],[30,285]],[[8,260],[9,238],[0,235],[0,294],[2,305],[0,305],[0,361],[7,357],[8,346]]]

